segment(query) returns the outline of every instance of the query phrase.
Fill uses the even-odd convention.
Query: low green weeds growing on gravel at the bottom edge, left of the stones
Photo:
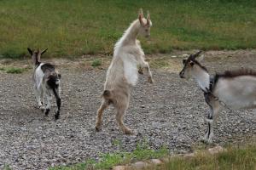
[[[120,144],[114,141],[114,144]],[[115,165],[127,164],[132,161],[143,161],[150,158],[167,156],[169,151],[162,147],[160,150],[151,150],[148,144],[137,144],[136,150],[132,152],[117,151],[115,153],[102,154],[100,161],[87,160],[71,167],[50,167],[49,170],[84,170],[84,169],[110,169]]]

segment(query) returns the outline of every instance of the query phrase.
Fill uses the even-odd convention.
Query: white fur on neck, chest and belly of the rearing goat
[[[147,20],[143,19],[146,23]],[[152,25],[151,21],[150,24]],[[147,68],[148,77],[152,77],[148,63],[144,60],[144,52],[137,40],[138,34],[145,27],[141,26],[139,20],[131,23],[123,37],[116,42],[113,51],[113,60],[108,67],[105,89],[112,89],[114,83],[118,83],[125,77],[126,82],[135,86],[138,79],[138,65]],[[149,34],[149,32],[148,32]]]

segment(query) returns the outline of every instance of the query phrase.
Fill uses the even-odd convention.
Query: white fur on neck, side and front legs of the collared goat
[[[199,65],[194,65],[189,74],[198,82],[201,89],[207,92],[210,84],[210,75],[207,71],[203,70]],[[213,124],[224,107],[232,109],[256,108],[256,77],[250,75],[219,77],[218,82],[214,84],[212,94],[218,99],[212,98],[211,95],[209,98],[211,111],[207,118],[209,126],[207,126],[207,133],[204,137],[204,140],[209,143],[212,143]]]

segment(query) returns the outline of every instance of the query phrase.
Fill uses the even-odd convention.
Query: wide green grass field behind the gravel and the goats
[[[47,57],[112,54],[138,8],[153,21],[148,54],[256,48],[255,0],[1,0],[0,56],[20,58],[27,47],[49,48]]]

